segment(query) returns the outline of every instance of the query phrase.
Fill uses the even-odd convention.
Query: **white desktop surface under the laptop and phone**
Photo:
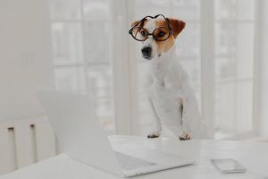
[[[268,143],[240,142],[240,141],[178,141],[176,139],[150,139],[141,137],[113,136],[111,138],[115,147],[140,144],[149,148],[159,149],[163,152],[180,154],[197,158],[197,163],[192,166],[184,166],[149,175],[141,175],[135,178],[163,178],[163,179],[219,179],[219,178],[250,178],[264,179],[268,176]],[[246,166],[246,174],[220,174],[210,163],[210,158],[235,158],[243,166]],[[257,175],[256,175],[257,174]],[[113,179],[120,178],[107,174],[94,167],[87,166],[62,154],[54,158],[48,158],[33,166],[28,166],[0,179]],[[268,178],[268,177],[267,177]]]

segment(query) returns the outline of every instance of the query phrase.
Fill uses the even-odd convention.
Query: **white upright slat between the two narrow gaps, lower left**
[[[28,166],[36,162],[34,139],[29,125],[29,123],[25,122],[18,122],[14,125],[18,168]]]

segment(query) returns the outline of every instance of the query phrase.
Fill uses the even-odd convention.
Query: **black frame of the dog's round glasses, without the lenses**
[[[165,39],[157,39],[157,38],[155,38],[155,35],[154,35],[155,30],[153,30],[152,33],[147,32],[147,38],[148,38],[148,36],[152,36],[156,41],[164,41],[164,40],[167,40],[169,37],[171,37],[173,30],[172,30],[172,27],[171,27],[171,25],[170,25],[170,21],[169,21],[169,19],[166,18],[163,14],[157,14],[157,15],[155,15],[154,17],[153,17],[153,16],[150,16],[150,15],[147,15],[146,17],[144,17],[144,18],[142,18],[140,21],[138,21],[138,22],[136,23],[136,25],[134,25],[134,26],[129,30],[129,34],[132,36],[132,38],[134,38],[134,39],[136,39],[136,40],[138,40],[138,41],[145,41],[145,40],[147,40],[147,38],[144,38],[144,39],[142,39],[142,40],[140,40],[140,39],[138,39],[138,38],[135,38],[135,37],[133,36],[132,31],[133,31],[133,29],[138,28],[138,24],[141,23],[141,22],[143,22],[143,21],[145,21],[147,18],[156,19],[156,18],[159,17],[159,16],[162,16],[162,17],[163,17],[163,19],[166,21],[166,24],[167,24],[168,28],[166,28],[166,27],[158,27],[158,28],[156,28],[155,30],[160,29],[160,28],[166,28],[166,29],[169,30],[169,36],[168,36],[167,38],[165,38]],[[145,30],[145,29],[142,28],[142,27],[139,27],[139,28]]]

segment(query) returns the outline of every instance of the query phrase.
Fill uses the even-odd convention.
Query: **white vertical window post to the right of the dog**
[[[200,8],[201,114],[214,138],[214,1],[203,1]]]

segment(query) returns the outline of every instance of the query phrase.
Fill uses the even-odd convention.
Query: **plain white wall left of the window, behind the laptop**
[[[37,87],[53,87],[46,0],[0,1],[0,120],[43,115]]]

